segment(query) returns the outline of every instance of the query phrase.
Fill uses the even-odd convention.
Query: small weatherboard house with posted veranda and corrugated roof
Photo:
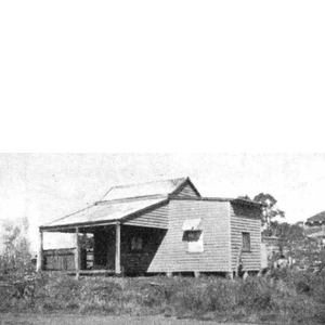
[[[188,178],[112,187],[92,206],[40,226],[76,234],[75,273],[224,273],[238,258],[261,269],[261,207],[242,198],[202,197]],[[81,263],[80,237],[93,235],[93,268]],[[82,266],[83,264],[83,266]],[[69,266],[72,269],[72,266]]]

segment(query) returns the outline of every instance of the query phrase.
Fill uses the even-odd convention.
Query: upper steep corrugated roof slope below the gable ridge
[[[146,195],[167,195],[172,194],[188,178],[148,182],[142,184],[131,184],[112,187],[101,200],[121,199]]]

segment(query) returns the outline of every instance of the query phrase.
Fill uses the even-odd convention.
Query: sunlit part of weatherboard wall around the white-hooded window
[[[188,252],[182,225],[202,218],[204,251]],[[170,199],[169,230],[148,272],[227,272],[231,269],[229,203]]]

